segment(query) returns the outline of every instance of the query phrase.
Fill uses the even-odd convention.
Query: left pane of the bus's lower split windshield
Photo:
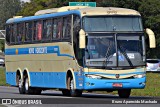
[[[87,66],[106,66],[110,56],[116,53],[114,34],[90,34],[87,37],[87,48],[85,50],[85,61]],[[116,57],[107,66],[116,66]]]

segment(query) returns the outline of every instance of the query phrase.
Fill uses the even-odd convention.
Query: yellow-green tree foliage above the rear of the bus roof
[[[58,8],[62,6],[68,6],[69,2],[75,0],[31,0],[29,3],[25,3],[22,10],[17,15],[32,16],[38,10]],[[95,0],[77,0],[77,2],[93,2]]]

